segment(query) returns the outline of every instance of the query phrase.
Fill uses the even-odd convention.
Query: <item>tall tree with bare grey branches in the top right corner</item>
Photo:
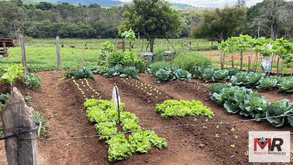
[[[280,31],[293,26],[292,9],[292,1],[265,0],[248,9],[248,26],[257,31],[258,36],[264,33],[275,40]]]

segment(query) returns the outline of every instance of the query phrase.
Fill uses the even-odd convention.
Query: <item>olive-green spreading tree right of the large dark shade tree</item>
[[[239,31],[240,26],[245,21],[246,8],[225,6],[213,10],[203,11],[201,23],[192,29],[192,36],[195,38],[211,38],[218,42],[230,36],[234,36]]]

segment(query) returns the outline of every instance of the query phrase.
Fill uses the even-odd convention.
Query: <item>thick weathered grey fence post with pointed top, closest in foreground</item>
[[[35,127],[33,107],[25,104],[21,92],[14,87],[1,114],[5,137]],[[36,131],[19,135],[21,138],[37,138]],[[8,165],[39,165],[37,140],[19,140],[18,137],[5,139]]]

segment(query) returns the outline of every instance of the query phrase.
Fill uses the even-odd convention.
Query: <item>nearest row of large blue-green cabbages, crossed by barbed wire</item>
[[[251,116],[256,121],[264,121],[265,117],[293,114],[293,103],[284,99],[275,103],[268,102],[265,97],[245,87],[229,84],[214,83],[209,87],[211,99],[219,105],[224,105],[230,113],[240,111],[241,115]],[[293,126],[293,116],[277,119],[267,119],[272,125],[279,127],[288,122]]]

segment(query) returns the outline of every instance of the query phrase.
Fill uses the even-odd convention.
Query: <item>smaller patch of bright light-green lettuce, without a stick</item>
[[[192,100],[165,100],[162,104],[156,104],[155,111],[161,113],[161,116],[169,119],[173,116],[184,117],[194,115],[205,115],[210,119],[214,116],[214,113],[210,108],[202,105],[202,102]]]

